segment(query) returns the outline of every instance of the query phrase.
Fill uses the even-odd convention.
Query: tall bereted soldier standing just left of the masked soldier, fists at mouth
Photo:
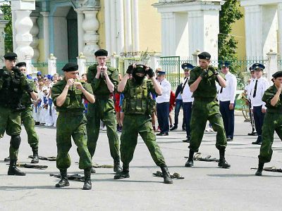
[[[91,83],[96,98],[87,110],[87,146],[93,157],[99,137],[100,120],[106,125],[106,134],[109,139],[111,157],[114,159],[114,172],[121,172],[119,156],[119,140],[116,131],[116,115],[114,101],[111,94],[118,86],[118,72],[106,66],[108,52],[100,49],[95,53],[98,64],[87,70],[87,82]],[[92,172],[94,169],[92,168]]]

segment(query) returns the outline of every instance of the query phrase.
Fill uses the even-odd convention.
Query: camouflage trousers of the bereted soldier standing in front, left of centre
[[[71,137],[78,147],[79,168],[85,170],[92,167],[90,153],[87,148],[86,134],[87,120],[83,113],[59,113],[56,129],[57,159],[59,170],[66,170],[71,166],[71,158],[68,151],[71,149]]]

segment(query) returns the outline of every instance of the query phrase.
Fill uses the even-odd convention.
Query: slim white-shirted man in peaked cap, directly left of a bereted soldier
[[[182,90],[180,94],[182,96],[182,106],[183,106],[183,116],[186,125],[186,139],[183,142],[190,142],[191,134],[190,134],[190,122],[191,122],[191,113],[192,113],[192,103],[194,98],[192,98],[192,92],[190,91],[188,80],[190,79],[190,70],[195,68],[193,65],[189,63],[183,63],[182,68],[185,74],[185,80],[182,85]]]

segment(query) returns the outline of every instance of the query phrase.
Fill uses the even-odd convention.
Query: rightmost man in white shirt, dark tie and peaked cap
[[[252,112],[254,113],[255,128],[257,130],[257,141],[252,144],[262,144],[262,124],[264,124],[264,115],[266,113],[266,107],[262,96],[264,91],[269,88],[269,82],[262,77],[264,65],[255,63],[252,65],[255,70],[256,79],[255,82],[250,84],[250,100],[252,101]]]

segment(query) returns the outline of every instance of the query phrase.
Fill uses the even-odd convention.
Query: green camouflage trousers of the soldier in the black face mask
[[[128,166],[133,160],[133,153],[137,145],[137,136],[140,134],[145,142],[154,162],[159,167],[166,165],[164,156],[156,141],[149,115],[128,115],[123,119],[123,132],[121,134],[121,161]]]

